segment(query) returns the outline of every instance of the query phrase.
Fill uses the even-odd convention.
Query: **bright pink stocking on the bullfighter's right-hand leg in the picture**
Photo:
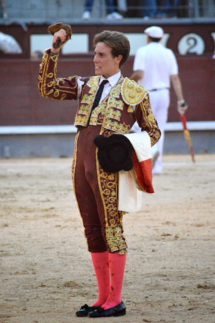
[[[122,301],[123,277],[126,263],[126,254],[120,255],[119,252],[109,253],[111,290],[108,299],[102,305],[108,309],[118,305]]]

